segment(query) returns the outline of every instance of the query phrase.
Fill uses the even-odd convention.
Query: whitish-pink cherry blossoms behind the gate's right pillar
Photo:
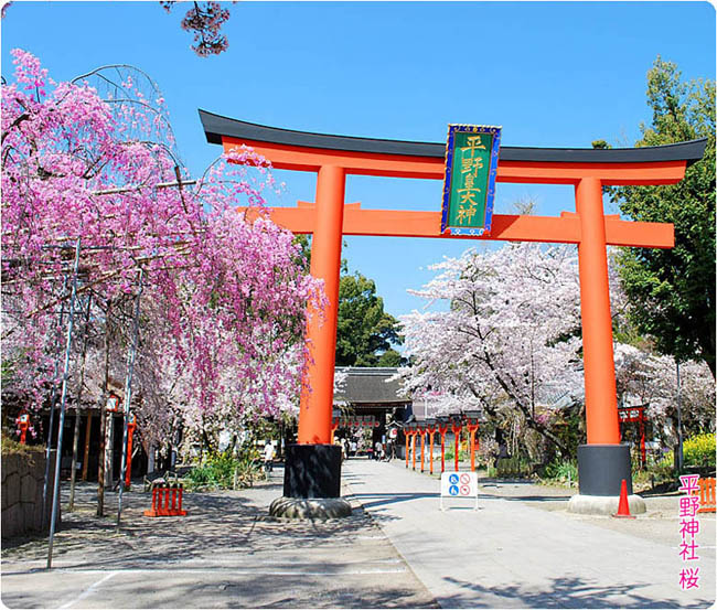
[[[575,248],[509,244],[468,250],[432,269],[436,278],[413,291],[427,309],[402,318],[405,355],[413,358],[400,371],[406,390],[436,413],[482,409],[558,445],[544,409],[585,399]],[[624,323],[628,304],[613,267],[610,293],[613,318]],[[443,309],[429,310],[434,302]],[[617,342],[614,353],[618,398],[649,404],[661,435],[676,417],[674,361]],[[683,364],[682,399],[696,427],[710,425],[715,388],[706,365]]]

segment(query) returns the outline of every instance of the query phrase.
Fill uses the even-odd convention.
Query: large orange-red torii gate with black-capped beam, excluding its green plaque
[[[344,203],[349,174],[442,180],[445,143],[292,131],[203,110],[200,118],[210,143],[222,145],[226,151],[246,145],[276,169],[318,173],[315,203],[298,202],[297,207],[270,211],[277,224],[293,233],[313,234],[311,275],[324,280],[329,299],[324,323],[314,315],[308,327],[313,363],[308,370],[311,389],[301,396],[300,445],[319,446],[331,439],[342,235],[577,244],[588,436],[588,445],[578,454],[580,493],[619,495],[623,478],[631,492],[629,450],[625,460],[622,450],[627,447],[620,445],[606,246],[671,248],[674,229],[666,223],[606,216],[602,186],[679,182],[687,164],[702,159],[706,140],[636,149],[501,147],[497,182],[571,184],[576,212],[563,212],[559,217],[494,214],[490,235],[457,237],[440,233],[440,211],[362,210],[361,204]]]

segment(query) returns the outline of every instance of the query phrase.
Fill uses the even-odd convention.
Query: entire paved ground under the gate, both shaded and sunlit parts
[[[715,517],[700,517],[700,589],[677,584],[677,497],[636,520],[571,515],[574,491],[483,480],[439,510],[438,478],[403,462],[349,460],[346,520],[268,517],[282,471],[253,489],[185,495],[186,517],[147,518],[150,495],[117,494],[95,517],[94,485],[46,538],[3,541],[8,608],[677,608],[715,599]],[[461,504],[462,502],[462,504]]]

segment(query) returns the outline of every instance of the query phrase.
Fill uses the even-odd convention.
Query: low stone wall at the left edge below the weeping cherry
[[[47,507],[42,522],[42,489],[45,479],[45,454],[41,451],[2,453],[2,537],[9,538],[47,532],[52,512],[54,451],[50,468]],[[60,523],[60,507],[57,522]]]

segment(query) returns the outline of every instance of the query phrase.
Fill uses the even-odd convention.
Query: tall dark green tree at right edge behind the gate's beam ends
[[[715,83],[683,83],[677,66],[657,57],[648,72],[648,105],[652,122],[640,126],[635,146],[707,138],[707,149],[678,184],[608,190],[632,220],[675,225],[674,248],[624,248],[619,272],[638,330],[661,353],[702,358],[715,375]]]

